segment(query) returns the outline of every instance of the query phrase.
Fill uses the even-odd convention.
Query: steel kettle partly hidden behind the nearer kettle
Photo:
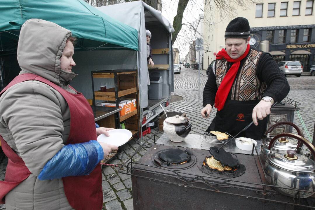
[[[266,131],[266,135],[267,137],[265,139],[262,139],[262,144],[261,144],[261,148],[260,148],[260,158],[261,158],[261,162],[263,164],[265,164],[266,160],[267,160],[267,156],[270,153],[269,148],[269,144],[271,141],[271,137],[270,137],[270,133],[277,127],[281,126],[281,125],[290,125],[293,128],[295,128],[295,130],[297,131],[298,135],[304,137],[303,132],[301,131],[301,129],[295,125],[292,122],[278,122],[276,124],[274,124],[273,126],[271,126],[267,131]],[[296,150],[296,153],[302,154],[302,148],[303,143],[299,142],[295,139],[289,139],[289,138],[279,138],[274,146],[272,147],[272,151],[287,151],[287,150]]]

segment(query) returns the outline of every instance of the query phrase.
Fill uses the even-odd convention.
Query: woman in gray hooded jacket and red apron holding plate
[[[0,139],[8,156],[0,203],[6,209],[101,209],[100,160],[118,148],[96,141],[91,107],[69,82],[71,31],[27,20],[17,58],[22,71],[0,93]]]

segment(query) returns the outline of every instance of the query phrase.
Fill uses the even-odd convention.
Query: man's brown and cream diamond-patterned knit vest
[[[266,83],[257,78],[256,69],[262,52],[250,49],[243,66],[240,66],[239,74],[233,82],[231,100],[249,101],[260,100],[266,90]],[[217,60],[215,65],[215,80],[219,87],[226,75],[227,61],[223,58]]]

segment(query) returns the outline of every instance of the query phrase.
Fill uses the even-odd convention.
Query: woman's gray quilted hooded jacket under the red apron
[[[70,36],[70,31],[52,22],[27,20],[21,28],[17,50],[20,74],[39,75],[75,93],[68,83],[76,74],[60,69],[60,57]],[[62,179],[37,179],[70,133],[66,100],[42,82],[21,82],[1,96],[0,116],[0,134],[31,171],[5,197],[6,209],[72,209]]]

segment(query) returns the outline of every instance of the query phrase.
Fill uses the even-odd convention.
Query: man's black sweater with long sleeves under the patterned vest
[[[241,60],[235,80],[238,78],[240,69],[242,68],[245,61],[246,57]],[[227,68],[230,69],[232,64],[233,63],[227,62]],[[263,97],[270,96],[275,102],[280,102],[288,95],[290,90],[289,83],[285,78],[284,73],[279,70],[278,65],[272,59],[269,53],[261,54],[261,57],[257,63],[256,74],[258,79],[262,82],[266,82],[267,85]],[[203,107],[205,107],[207,104],[210,104],[213,107],[217,90],[218,87],[216,85],[215,74],[213,71],[210,71],[208,81],[203,88]],[[232,88],[227,99],[231,99],[231,95]]]

